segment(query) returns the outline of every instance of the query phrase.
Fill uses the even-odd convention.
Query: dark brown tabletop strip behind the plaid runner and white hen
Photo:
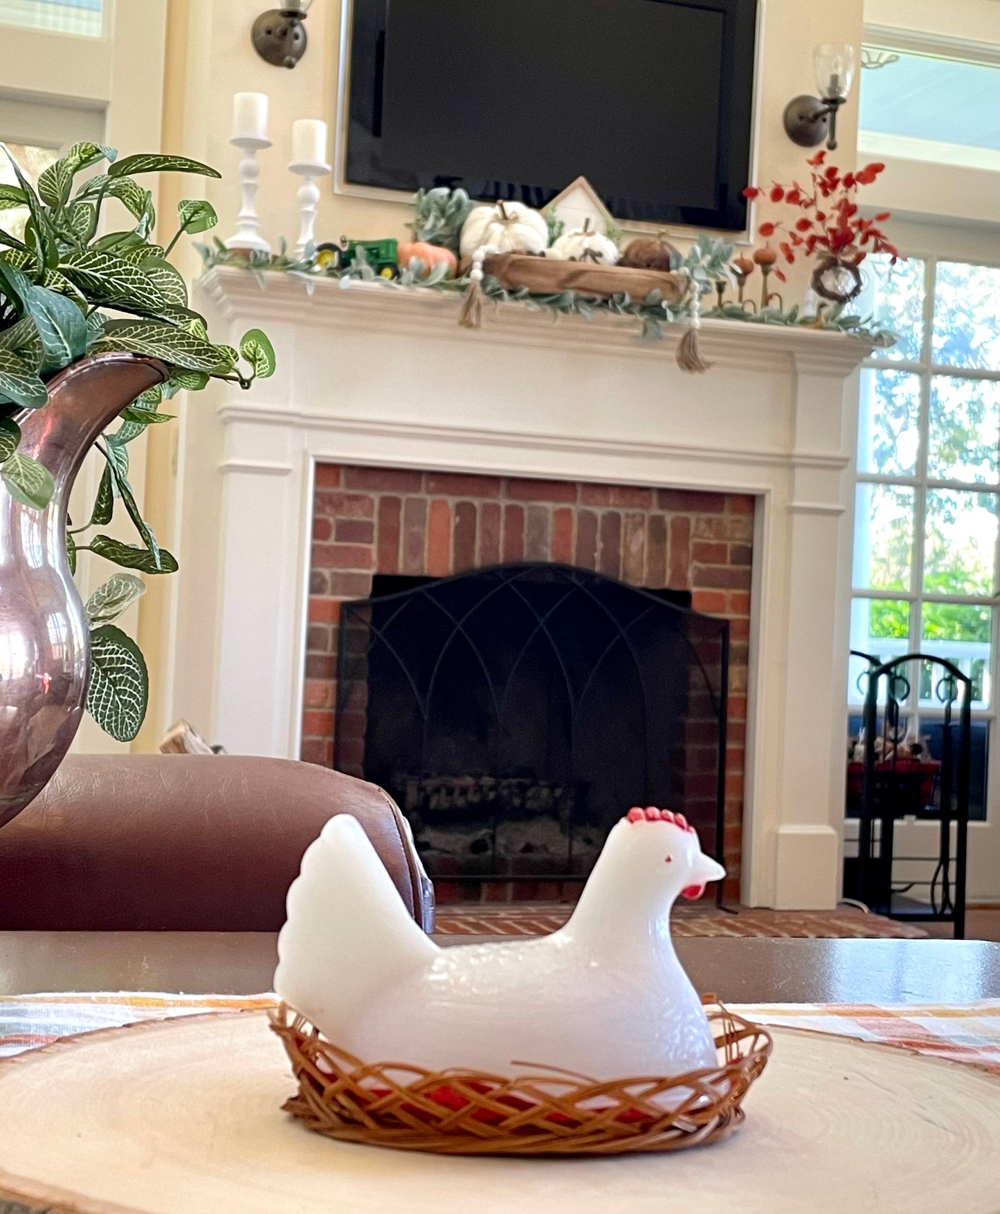
[[[485,937],[441,936],[441,944]],[[0,931],[0,998],[43,991],[271,989],[271,932]],[[1000,944],[978,940],[680,938],[701,992],[730,1003],[1000,998]]]

